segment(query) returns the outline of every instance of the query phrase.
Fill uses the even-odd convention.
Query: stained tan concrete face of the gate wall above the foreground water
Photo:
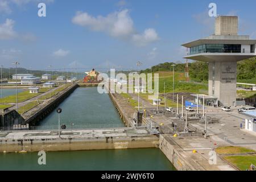
[[[150,137],[119,137],[91,139],[54,139],[54,140],[0,140],[0,153],[5,152],[38,152],[38,151],[79,151],[79,150],[108,150],[128,148],[156,148],[159,138]]]

